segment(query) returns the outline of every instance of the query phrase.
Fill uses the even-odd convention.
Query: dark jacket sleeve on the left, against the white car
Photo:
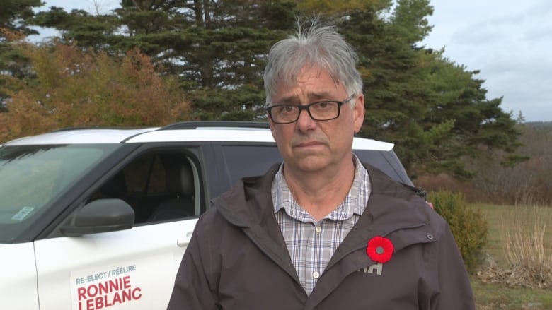
[[[217,292],[210,270],[212,257],[209,253],[209,236],[205,232],[205,218],[197,221],[190,244],[176,274],[175,284],[167,310],[177,309],[220,309],[217,302]]]

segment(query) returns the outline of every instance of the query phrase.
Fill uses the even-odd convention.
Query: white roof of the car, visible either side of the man
[[[268,123],[253,121],[183,121],[165,127],[140,129],[82,128],[62,129],[36,136],[18,138],[4,145],[54,145],[92,143],[154,142],[262,142],[274,143]],[[393,149],[393,143],[355,137],[357,150]]]

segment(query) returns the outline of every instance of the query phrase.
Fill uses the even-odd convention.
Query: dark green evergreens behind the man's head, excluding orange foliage
[[[83,50],[140,49],[160,75],[178,77],[194,119],[253,120],[266,117],[265,55],[298,14],[330,20],[357,49],[367,106],[360,135],[395,143],[408,171],[468,178],[462,157],[516,150],[515,121],[502,98],[486,97],[478,71],[419,45],[432,29],[429,0],[123,0],[103,16],[50,8],[33,23]]]

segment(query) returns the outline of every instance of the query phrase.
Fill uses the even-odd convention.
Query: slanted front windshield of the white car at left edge
[[[118,146],[0,147],[0,242],[16,239],[48,205]]]

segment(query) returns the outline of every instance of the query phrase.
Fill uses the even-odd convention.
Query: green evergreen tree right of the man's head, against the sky
[[[411,173],[449,172],[473,177],[462,160],[488,150],[519,146],[519,131],[502,111],[502,98],[488,100],[478,71],[466,71],[442,52],[418,47],[430,32],[427,0],[398,1],[390,18],[372,6],[342,18],[340,29],[360,54],[366,117],[361,136],[395,143]],[[511,155],[505,163],[524,157]]]

